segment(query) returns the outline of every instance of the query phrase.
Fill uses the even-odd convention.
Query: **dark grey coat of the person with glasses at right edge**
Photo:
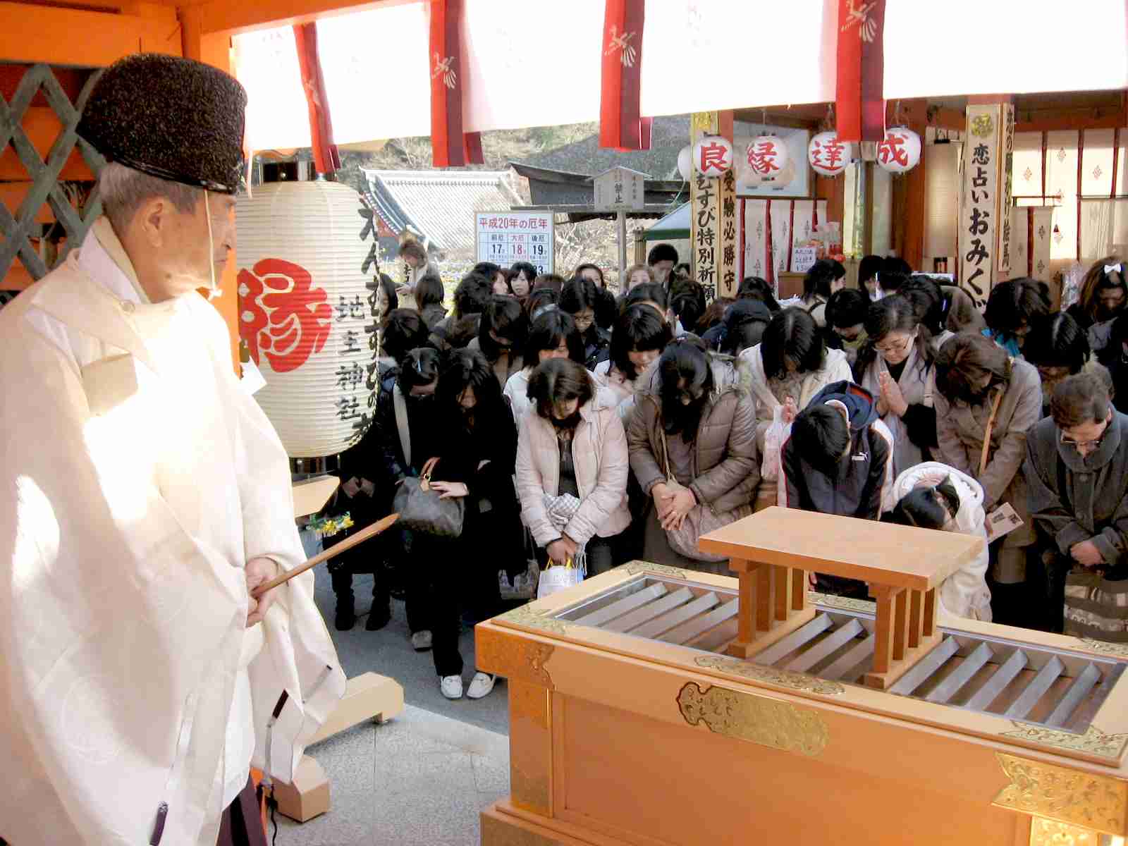
[[[1047,417],[1026,439],[1031,519],[1061,555],[1092,540],[1110,566],[1128,567],[1128,416],[1114,412],[1101,446],[1085,458],[1060,437]]]

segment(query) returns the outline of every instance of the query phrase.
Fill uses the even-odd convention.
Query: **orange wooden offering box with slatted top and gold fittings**
[[[872,546],[802,517],[816,518],[802,563],[764,540],[738,561],[802,572],[818,558],[827,572]],[[923,616],[946,565],[928,570],[919,544],[944,532],[909,531],[929,538],[905,536],[895,563],[919,579],[890,587],[919,592]],[[737,579],[644,562],[479,624],[478,667],[508,679],[511,750],[511,794],[483,812],[482,843],[1098,846],[1128,834],[1128,650],[941,618],[936,645],[879,689],[866,681],[896,594],[882,610],[768,572],[791,585],[792,614],[767,631],[740,619]],[[777,634],[796,613],[805,622]]]

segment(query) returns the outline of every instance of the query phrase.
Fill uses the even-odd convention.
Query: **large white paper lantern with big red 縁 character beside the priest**
[[[371,417],[377,302],[360,206],[335,182],[270,183],[238,201],[239,335],[291,458],[341,452]]]

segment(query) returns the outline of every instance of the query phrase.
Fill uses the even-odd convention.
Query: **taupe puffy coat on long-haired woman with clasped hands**
[[[693,477],[689,488],[697,502],[715,513],[748,505],[760,481],[756,452],[756,406],[740,388],[728,356],[710,354],[714,389],[706,399],[694,440]],[[660,374],[637,397],[627,429],[631,469],[647,496],[654,485],[666,482],[661,466]]]

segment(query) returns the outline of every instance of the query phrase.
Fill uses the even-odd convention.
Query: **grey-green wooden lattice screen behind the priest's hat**
[[[0,202],[0,284],[17,256],[33,279],[44,276],[67,257],[71,248],[82,243],[87,229],[102,214],[102,201],[96,187],[88,183],[61,182],[59,178],[76,147],[95,177],[105,164],[105,159],[77,132],[79,116],[98,76],[90,76],[77,103],[71,103],[46,64],[27,69],[10,103],[0,94],[0,151],[11,144],[32,183],[15,211]],[[24,115],[39,90],[62,124],[46,161],[21,126]],[[55,215],[54,226],[46,228],[36,221],[44,203]]]

